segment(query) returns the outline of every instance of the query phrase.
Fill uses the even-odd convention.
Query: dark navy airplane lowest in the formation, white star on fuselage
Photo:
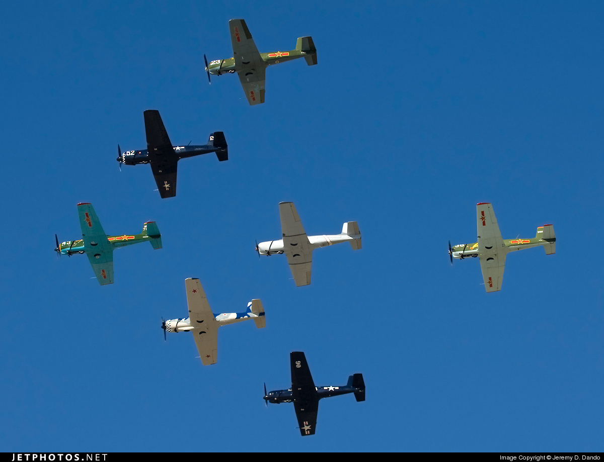
[[[300,425],[302,436],[314,435],[316,430],[316,414],[319,410],[319,400],[354,393],[357,401],[365,400],[365,382],[362,374],[354,374],[348,378],[346,385],[339,387],[315,387],[310,375],[310,369],[303,352],[292,352],[289,355],[292,370],[292,388],[274,390],[266,393],[267,403],[294,403],[294,410]]]

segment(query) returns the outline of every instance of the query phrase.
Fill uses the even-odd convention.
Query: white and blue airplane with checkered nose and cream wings
[[[259,299],[249,302],[248,309],[243,313],[214,314],[199,279],[191,277],[185,279],[185,287],[189,317],[162,321],[161,328],[164,329],[164,337],[166,331],[191,332],[204,365],[216,364],[220,326],[247,319],[253,319],[259,329],[266,326],[264,308]]]

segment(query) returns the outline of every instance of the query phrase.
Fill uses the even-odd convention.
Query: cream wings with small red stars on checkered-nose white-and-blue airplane
[[[204,288],[197,278],[185,279],[191,332],[204,365],[216,364],[218,353],[218,324],[210,309]]]

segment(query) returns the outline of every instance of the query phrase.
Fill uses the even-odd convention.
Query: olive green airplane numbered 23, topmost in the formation
[[[204,54],[205,71],[208,73],[208,81],[210,81],[210,74],[222,75],[237,72],[245,97],[252,106],[264,103],[265,71],[268,66],[301,57],[306,59],[309,66],[316,64],[316,48],[312,37],[299,37],[296,48],[289,51],[259,53],[243,19],[231,19],[228,26],[231,31],[231,42],[233,42],[233,57],[217,59],[208,65]]]

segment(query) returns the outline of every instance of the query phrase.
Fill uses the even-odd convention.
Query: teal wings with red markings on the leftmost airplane
[[[77,204],[84,248],[100,285],[113,283],[113,247],[92,204]]]

